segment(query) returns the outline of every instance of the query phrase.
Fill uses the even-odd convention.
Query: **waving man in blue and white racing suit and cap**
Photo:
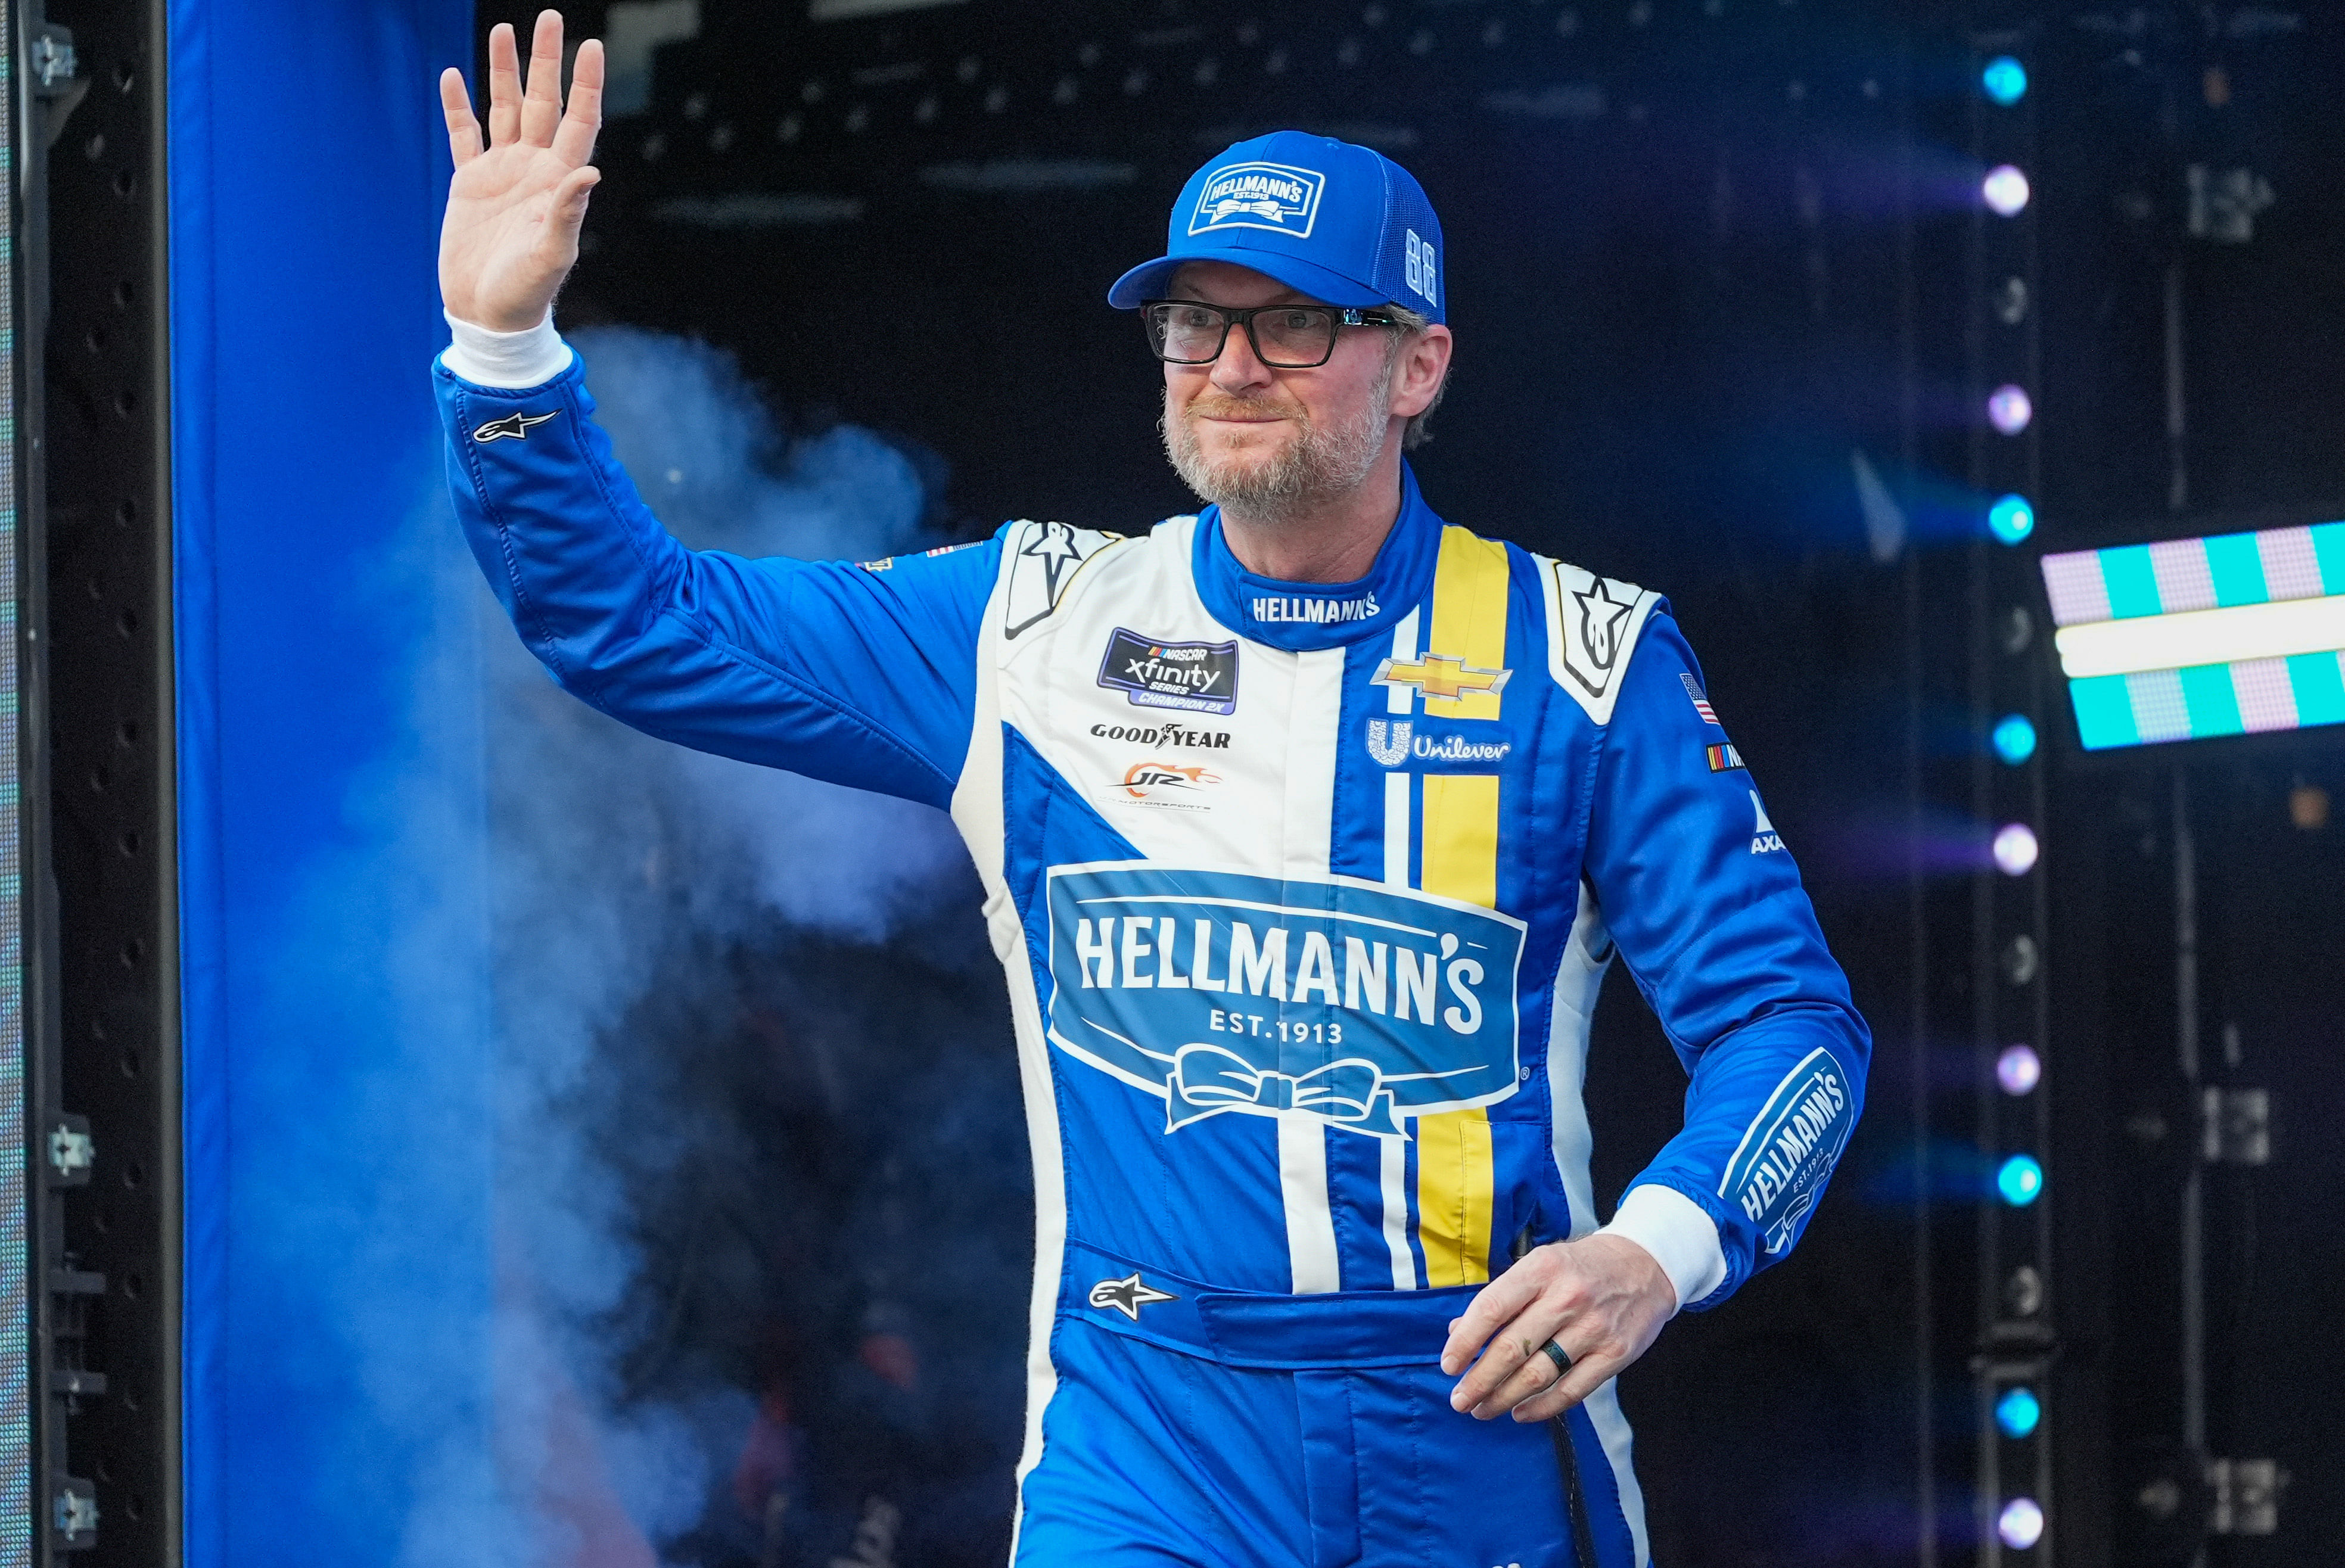
[[[1642,1566],[1613,1376],[1796,1242],[1869,1036],[1667,607],[1419,495],[1416,180],[1238,143],[1112,288],[1203,513],[692,553],[551,326],[603,80],[565,113],[560,54],[546,12],[523,91],[492,33],[485,150],[443,77],[457,509],[577,696],[959,823],[1034,1144],[1015,1561]],[[1599,1228],[1613,952],[1693,1080]]]

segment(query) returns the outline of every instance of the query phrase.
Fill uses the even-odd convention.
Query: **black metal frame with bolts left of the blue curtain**
[[[47,157],[26,150],[45,197],[28,223],[47,230],[26,255],[47,286],[23,345],[45,375],[26,398],[45,420],[26,647],[47,682],[26,731],[49,783],[28,1017],[45,1024],[35,1127],[87,1132],[94,1158],[45,1170],[40,1561],[150,1566],[181,1561],[166,28],[159,0],[52,5],[84,87],[52,101]]]

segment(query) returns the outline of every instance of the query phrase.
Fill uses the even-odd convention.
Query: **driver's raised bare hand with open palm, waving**
[[[488,35],[488,150],[464,73],[441,73],[448,113],[448,216],[441,220],[441,302],[499,333],[546,319],[579,260],[586,195],[603,176],[586,159],[603,127],[603,45],[579,45],[563,110],[563,14],[539,12],[530,35],[530,89],[521,89],[514,28]]]

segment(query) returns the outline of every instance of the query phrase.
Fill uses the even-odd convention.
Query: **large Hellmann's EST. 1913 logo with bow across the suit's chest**
[[[1051,872],[1053,1043],[1165,1132],[1301,1111],[1346,1132],[1515,1092],[1522,921],[1348,877],[1147,860]]]

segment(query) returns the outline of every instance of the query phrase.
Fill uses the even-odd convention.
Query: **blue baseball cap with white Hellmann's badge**
[[[1107,302],[1165,298],[1182,263],[1224,260],[1327,305],[1407,305],[1445,316],[1442,225],[1416,178],[1372,148],[1271,131],[1189,176],[1165,253],[1116,279]]]

